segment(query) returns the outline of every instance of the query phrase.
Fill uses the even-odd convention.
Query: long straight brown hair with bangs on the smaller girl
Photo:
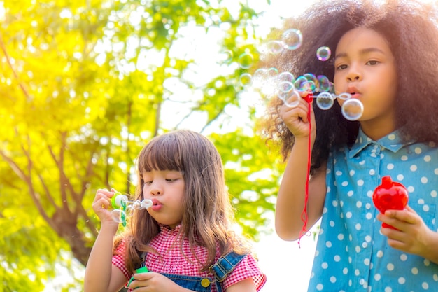
[[[135,200],[143,200],[143,172],[176,170],[183,174],[185,195],[181,237],[190,246],[204,246],[208,259],[202,264],[207,270],[214,263],[216,250],[248,253],[243,239],[230,230],[234,212],[225,186],[222,160],[216,147],[202,134],[190,130],[176,130],[153,138],[141,150],[137,159]],[[125,240],[125,260],[131,272],[141,264],[141,253],[153,251],[148,243],[160,233],[160,226],[147,211],[135,211],[131,226],[119,239]],[[192,249],[193,250],[193,249]],[[196,255],[195,255],[196,257]]]

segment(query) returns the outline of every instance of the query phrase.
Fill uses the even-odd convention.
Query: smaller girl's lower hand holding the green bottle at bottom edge
[[[190,291],[178,286],[171,279],[156,272],[145,272],[134,274],[134,281],[129,288],[135,289],[135,292],[173,292],[173,291]]]

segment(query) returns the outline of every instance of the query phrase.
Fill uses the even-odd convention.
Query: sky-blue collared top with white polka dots
[[[438,148],[402,143],[397,131],[372,141],[362,130],[327,161],[327,195],[309,291],[438,291],[438,265],[388,246],[372,193],[382,176],[409,191],[409,206],[438,232]],[[438,246],[437,246],[438,249]]]

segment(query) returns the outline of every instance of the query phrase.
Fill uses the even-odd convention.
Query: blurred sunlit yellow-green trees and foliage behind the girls
[[[243,232],[269,231],[282,166],[255,105],[243,106],[237,65],[256,51],[255,18],[221,1],[0,1],[0,291],[42,291],[56,265],[86,265],[97,188],[133,193],[140,149],[194,116],[222,155]],[[195,32],[211,54],[201,61]]]

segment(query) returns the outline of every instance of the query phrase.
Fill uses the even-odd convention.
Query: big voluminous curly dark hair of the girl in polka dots
[[[316,58],[316,50],[337,47],[341,36],[355,27],[366,27],[379,32],[389,43],[397,67],[397,102],[395,126],[402,139],[438,144],[438,14],[436,4],[417,1],[321,1],[297,18],[285,20],[280,31],[299,29],[302,46],[285,50],[280,55],[266,57],[262,67],[276,67],[294,76],[311,73],[334,76],[334,57],[327,62]],[[333,54],[334,55],[334,54]],[[294,137],[281,120],[278,109],[283,104],[274,97],[265,119],[268,139],[279,140],[283,158],[288,157]],[[337,102],[330,110],[321,110],[313,103],[317,134],[313,146],[312,172],[327,160],[332,146],[353,144],[359,122],[346,120]],[[404,126],[404,127],[402,127]]]

